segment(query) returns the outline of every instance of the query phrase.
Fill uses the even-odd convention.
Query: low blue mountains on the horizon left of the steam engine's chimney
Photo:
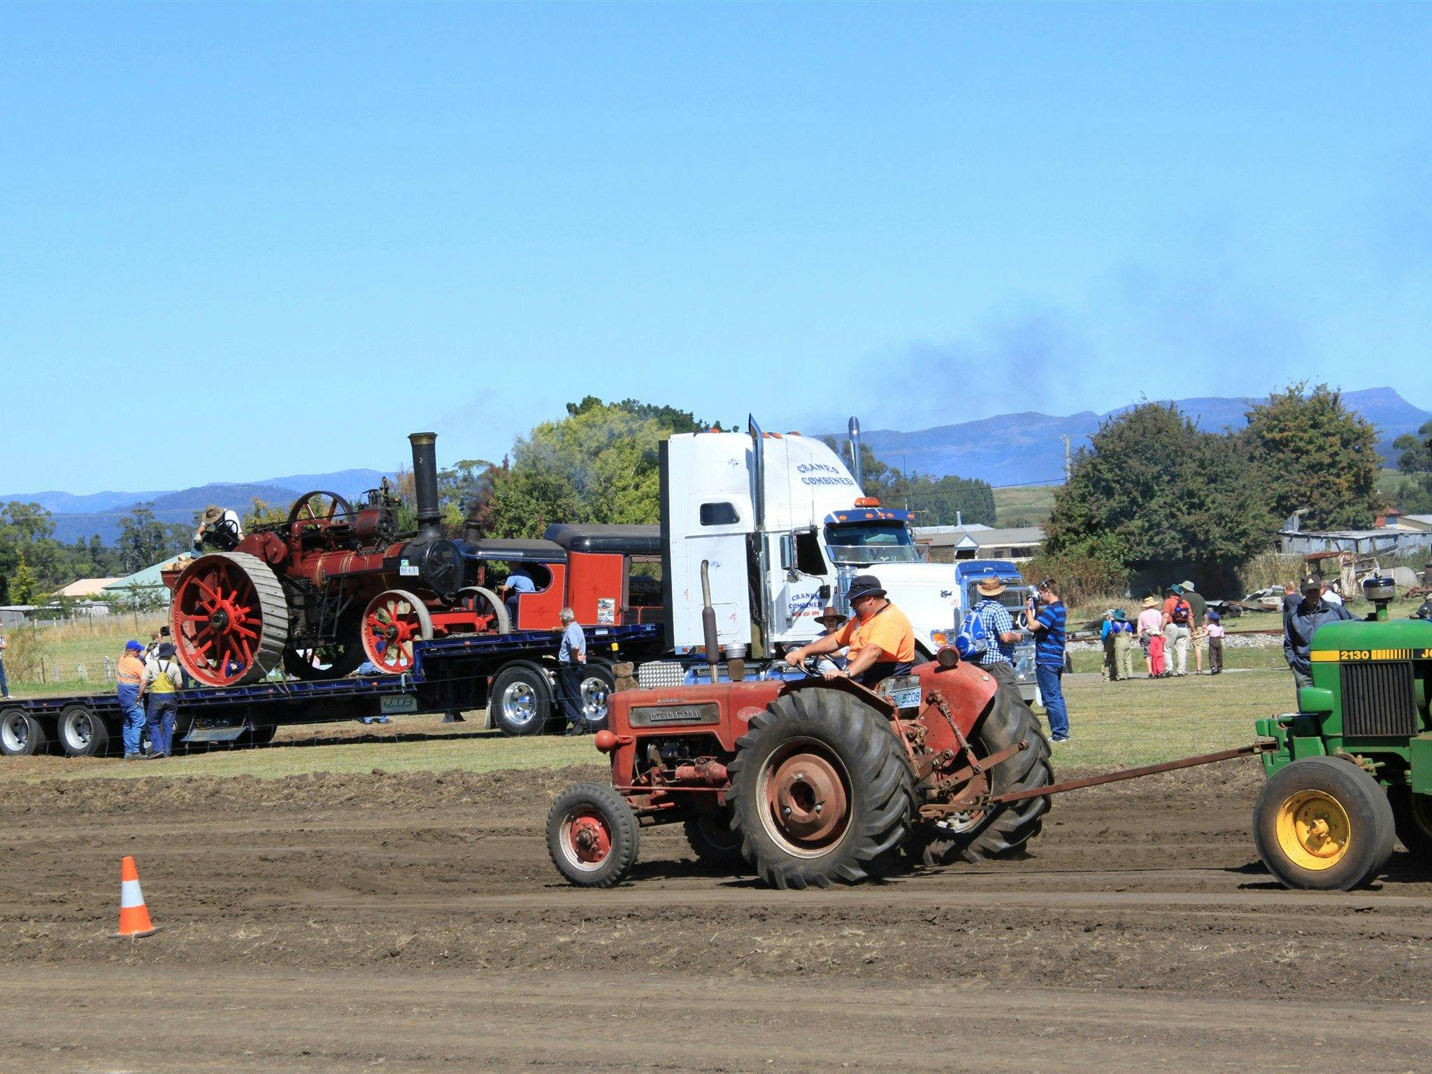
[[[209,504],[232,507],[242,514],[253,497],[271,504],[286,505],[315,488],[355,500],[367,490],[375,488],[384,477],[392,477],[392,474],[385,474],[381,470],[338,470],[331,474],[289,474],[241,484],[215,483],[178,491],[90,493],[87,495],[59,491],[0,493],[0,503],[19,500],[26,504],[40,504],[54,516],[54,537],[66,544],[76,537],[89,540],[90,534],[96,533],[102,541],[113,544],[119,536],[120,518],[142,503],[152,503],[155,517],[160,521],[188,526],[193,521],[195,511],[202,511]]]

